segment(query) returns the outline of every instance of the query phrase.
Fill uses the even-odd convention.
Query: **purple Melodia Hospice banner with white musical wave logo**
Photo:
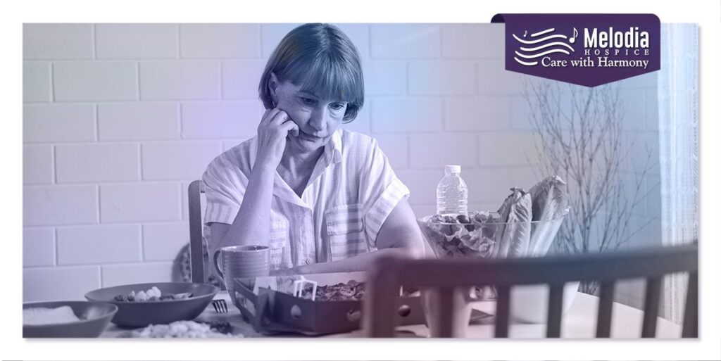
[[[654,14],[496,14],[505,69],[583,86],[660,69]]]

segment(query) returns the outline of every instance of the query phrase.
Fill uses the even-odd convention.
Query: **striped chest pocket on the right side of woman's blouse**
[[[339,205],[325,212],[325,225],[331,261],[337,261],[369,251],[363,232],[361,203]]]

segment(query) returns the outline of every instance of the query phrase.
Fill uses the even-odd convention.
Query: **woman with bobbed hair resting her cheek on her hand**
[[[211,254],[267,245],[275,275],[423,254],[408,188],[375,139],[339,128],[363,107],[361,60],[343,32],[296,27],[270,55],[258,91],[266,110],[257,136],[203,174]]]

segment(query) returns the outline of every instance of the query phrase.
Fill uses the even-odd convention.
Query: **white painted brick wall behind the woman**
[[[539,178],[524,78],[503,71],[503,25],[338,25],[366,80],[365,107],[342,127],[379,141],[416,215],[435,211],[444,164],[463,166],[472,209],[495,210]],[[296,26],[24,25],[25,300],[170,280],[189,239],[187,186],[255,135],[260,74]],[[655,82],[620,85],[628,138],[658,153]],[[639,219],[658,214],[657,198]]]

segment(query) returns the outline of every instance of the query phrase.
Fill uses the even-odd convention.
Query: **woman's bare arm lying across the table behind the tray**
[[[280,269],[273,272],[273,275],[364,271],[373,264],[374,259],[385,254],[395,254],[398,257],[423,257],[423,236],[416,223],[415,214],[405,197],[399,200],[381,226],[376,246],[378,246],[378,251],[359,254],[339,261]]]

